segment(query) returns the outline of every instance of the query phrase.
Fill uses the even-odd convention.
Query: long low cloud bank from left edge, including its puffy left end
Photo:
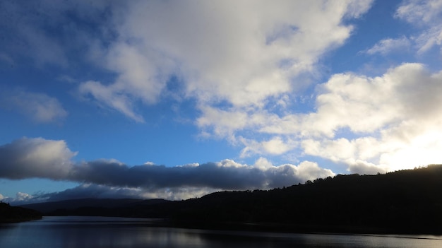
[[[68,190],[64,195],[87,193],[104,196],[114,193],[170,198],[195,194],[201,196],[215,190],[270,189],[334,175],[331,170],[307,161],[299,165],[275,166],[264,160],[259,160],[258,165],[222,160],[201,165],[165,167],[152,163],[128,166],[117,160],[73,163],[74,155],[76,153],[69,150],[64,141],[21,138],[0,146],[0,177],[40,177],[94,185]],[[266,166],[263,167],[263,163]]]

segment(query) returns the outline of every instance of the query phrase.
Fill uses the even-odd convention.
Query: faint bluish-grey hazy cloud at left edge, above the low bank
[[[57,122],[68,115],[59,100],[44,93],[3,90],[0,97],[1,108],[20,112],[38,123]]]

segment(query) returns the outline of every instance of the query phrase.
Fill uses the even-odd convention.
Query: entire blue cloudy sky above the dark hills
[[[442,163],[442,1],[0,1],[0,200]]]

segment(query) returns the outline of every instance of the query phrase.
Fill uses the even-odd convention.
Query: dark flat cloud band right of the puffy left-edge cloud
[[[210,187],[215,189],[269,189],[289,186],[307,179],[333,175],[316,163],[256,167],[233,160],[201,165],[166,167],[99,160],[74,165],[67,179],[119,187],[169,188]]]

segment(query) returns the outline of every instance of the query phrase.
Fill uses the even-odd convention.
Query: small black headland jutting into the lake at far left
[[[38,211],[10,206],[8,203],[0,202],[0,223],[38,220],[41,218],[42,213]]]

